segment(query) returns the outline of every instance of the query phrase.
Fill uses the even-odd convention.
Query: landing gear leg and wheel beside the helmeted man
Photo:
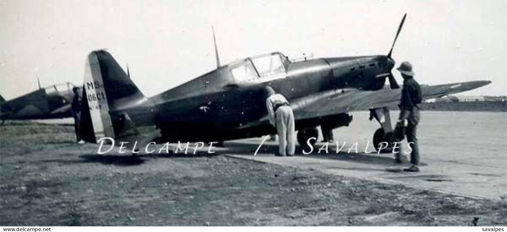
[[[391,124],[391,114],[387,107],[370,109],[370,120],[375,119],[380,124],[380,128],[373,134],[373,144],[380,153],[392,153],[393,129]],[[380,150],[379,150],[380,149]]]

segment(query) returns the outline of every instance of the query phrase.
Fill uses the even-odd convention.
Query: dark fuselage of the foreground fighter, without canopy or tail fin
[[[284,77],[249,82],[235,79],[233,65],[221,66],[126,110],[136,125],[155,122],[165,141],[219,141],[274,134],[275,129],[267,122],[244,127],[267,114],[265,85],[271,85],[289,102],[332,89],[374,91],[384,88],[385,76],[378,75],[389,73],[394,61],[386,56],[361,56],[286,62]],[[321,120],[297,121],[296,129],[318,126]]]

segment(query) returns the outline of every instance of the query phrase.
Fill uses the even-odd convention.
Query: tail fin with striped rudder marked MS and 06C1
[[[154,111],[153,104],[113,56],[103,50],[91,52],[84,79],[79,120],[81,138],[93,143],[104,137],[137,140],[140,133],[130,114],[142,112],[149,117]],[[147,109],[132,110],[142,106]]]

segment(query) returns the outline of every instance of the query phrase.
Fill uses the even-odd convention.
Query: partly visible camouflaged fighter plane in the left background
[[[62,119],[72,117],[70,103],[74,98],[71,83],[51,85],[6,101],[0,96],[0,120]]]

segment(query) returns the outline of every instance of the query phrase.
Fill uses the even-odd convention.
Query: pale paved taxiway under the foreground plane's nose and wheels
[[[421,172],[391,173],[385,167],[392,163],[392,154],[364,152],[372,133],[378,128],[368,121],[368,112],[355,112],[349,127],[334,130],[335,142],[346,142],[338,154],[335,145],[330,153],[300,154],[297,157],[274,157],[271,147],[261,149],[258,156],[233,154],[232,156],[260,162],[297,168],[316,169],[327,173],[375,179],[381,182],[401,183],[423,189],[451,192],[463,196],[490,199],[507,197],[507,113],[423,111],[418,128],[421,150]],[[398,112],[394,112],[395,120]],[[260,139],[242,140],[241,143],[259,144]],[[353,143],[358,153],[347,153]],[[231,142],[233,145],[234,142]],[[321,143],[320,143],[321,144]],[[238,144],[239,145],[239,144]],[[319,143],[316,144],[319,148]],[[372,150],[372,147],[368,151]]]

